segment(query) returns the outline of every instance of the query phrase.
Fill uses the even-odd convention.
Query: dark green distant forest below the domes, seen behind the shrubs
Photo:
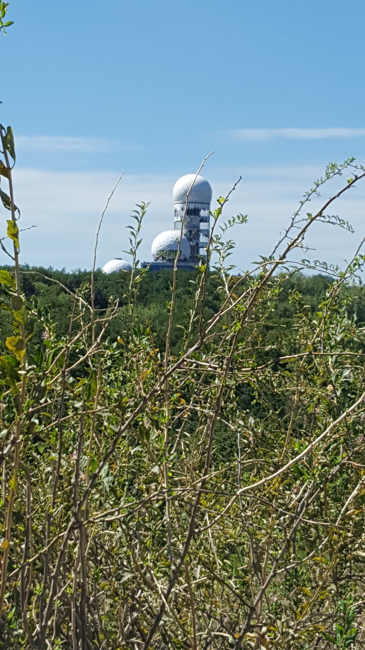
[[[4,270],[11,271],[10,266],[3,266]],[[51,316],[52,328],[58,336],[65,336],[69,326],[69,314],[73,300],[73,294],[78,294],[90,300],[90,272],[75,270],[74,272],[58,271],[53,268],[42,267],[21,267],[21,285],[27,300],[32,302],[34,313],[42,313],[43,317],[47,311]],[[127,291],[129,286],[129,274],[119,272],[114,274],[103,274],[95,272],[95,297],[94,306],[99,313],[106,313],[108,307],[118,300],[118,315],[108,324],[107,336],[110,341],[116,341],[118,334],[125,326],[127,318]],[[135,305],[136,317],[143,326],[149,326],[160,350],[164,350],[166,323],[168,312],[166,304],[171,295],[172,272],[162,270],[144,274],[138,285],[138,297]],[[171,348],[173,352],[181,349],[181,333],[186,328],[189,320],[190,310],[194,301],[194,281],[196,274],[186,270],[177,270],[177,291],[175,293],[175,305],[179,313],[179,322],[174,321],[171,330]],[[229,281],[233,284],[239,281],[240,276],[231,276]],[[323,300],[326,291],[331,287],[333,279],[324,274],[308,275],[300,272],[288,277],[284,274],[277,274],[275,282],[279,289],[277,299],[271,304],[265,320],[265,338],[272,345],[277,343],[278,348],[284,344],[286,339],[286,328],[290,328],[294,322],[296,307],[292,300],[289,300],[293,292],[299,292],[303,304],[307,305],[310,313],[315,315],[318,306]],[[238,287],[237,292],[241,294],[244,285]],[[347,316],[352,317],[358,326],[365,322],[364,292],[361,287],[346,285],[341,289],[342,298],[347,297]],[[218,313],[222,305],[220,282],[218,275],[210,272],[207,277],[207,296],[205,300],[206,317],[212,317]],[[271,327],[270,327],[271,325]],[[2,346],[5,346],[5,337],[11,332],[11,318],[3,311],[0,324],[0,337]],[[35,331],[32,337],[32,344],[40,343],[42,329],[40,324],[35,323]],[[270,341],[269,341],[270,339]],[[279,355],[280,356],[280,355]]]

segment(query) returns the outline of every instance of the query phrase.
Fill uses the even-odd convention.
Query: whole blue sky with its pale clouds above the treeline
[[[0,121],[16,138],[19,226],[36,226],[21,235],[22,263],[90,268],[122,172],[97,265],[125,257],[141,201],[150,205],[139,257],[151,261],[153,238],[173,226],[175,181],[214,151],[202,172],[214,200],[242,176],[223,220],[248,214],[229,233],[232,263],[245,270],[271,253],[328,162],[365,164],[364,3],[10,0],[7,19]],[[325,186],[321,201],[340,187]],[[351,258],[364,205],[365,181],[330,209],[355,233],[314,227],[313,259]]]

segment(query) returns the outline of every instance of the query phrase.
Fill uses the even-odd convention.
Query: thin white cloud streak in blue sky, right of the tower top
[[[227,133],[227,132],[226,132]],[[324,138],[363,138],[365,129],[233,129],[228,131],[233,140],[322,140]]]

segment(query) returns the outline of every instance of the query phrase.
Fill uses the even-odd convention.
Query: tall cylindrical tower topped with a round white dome
[[[195,178],[195,174],[186,174],[179,178],[173,188],[174,229],[181,230],[183,224],[183,235],[190,244],[192,264],[198,264],[201,258],[207,257],[205,248],[210,233],[211,200],[212,188],[200,175]]]

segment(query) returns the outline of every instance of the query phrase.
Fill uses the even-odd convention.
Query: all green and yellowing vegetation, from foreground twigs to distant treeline
[[[362,647],[364,257],[284,264],[364,170],[242,276],[227,198],[211,271],[138,268],[141,204],[130,274],[64,274],[19,266],[0,135],[1,647]]]

